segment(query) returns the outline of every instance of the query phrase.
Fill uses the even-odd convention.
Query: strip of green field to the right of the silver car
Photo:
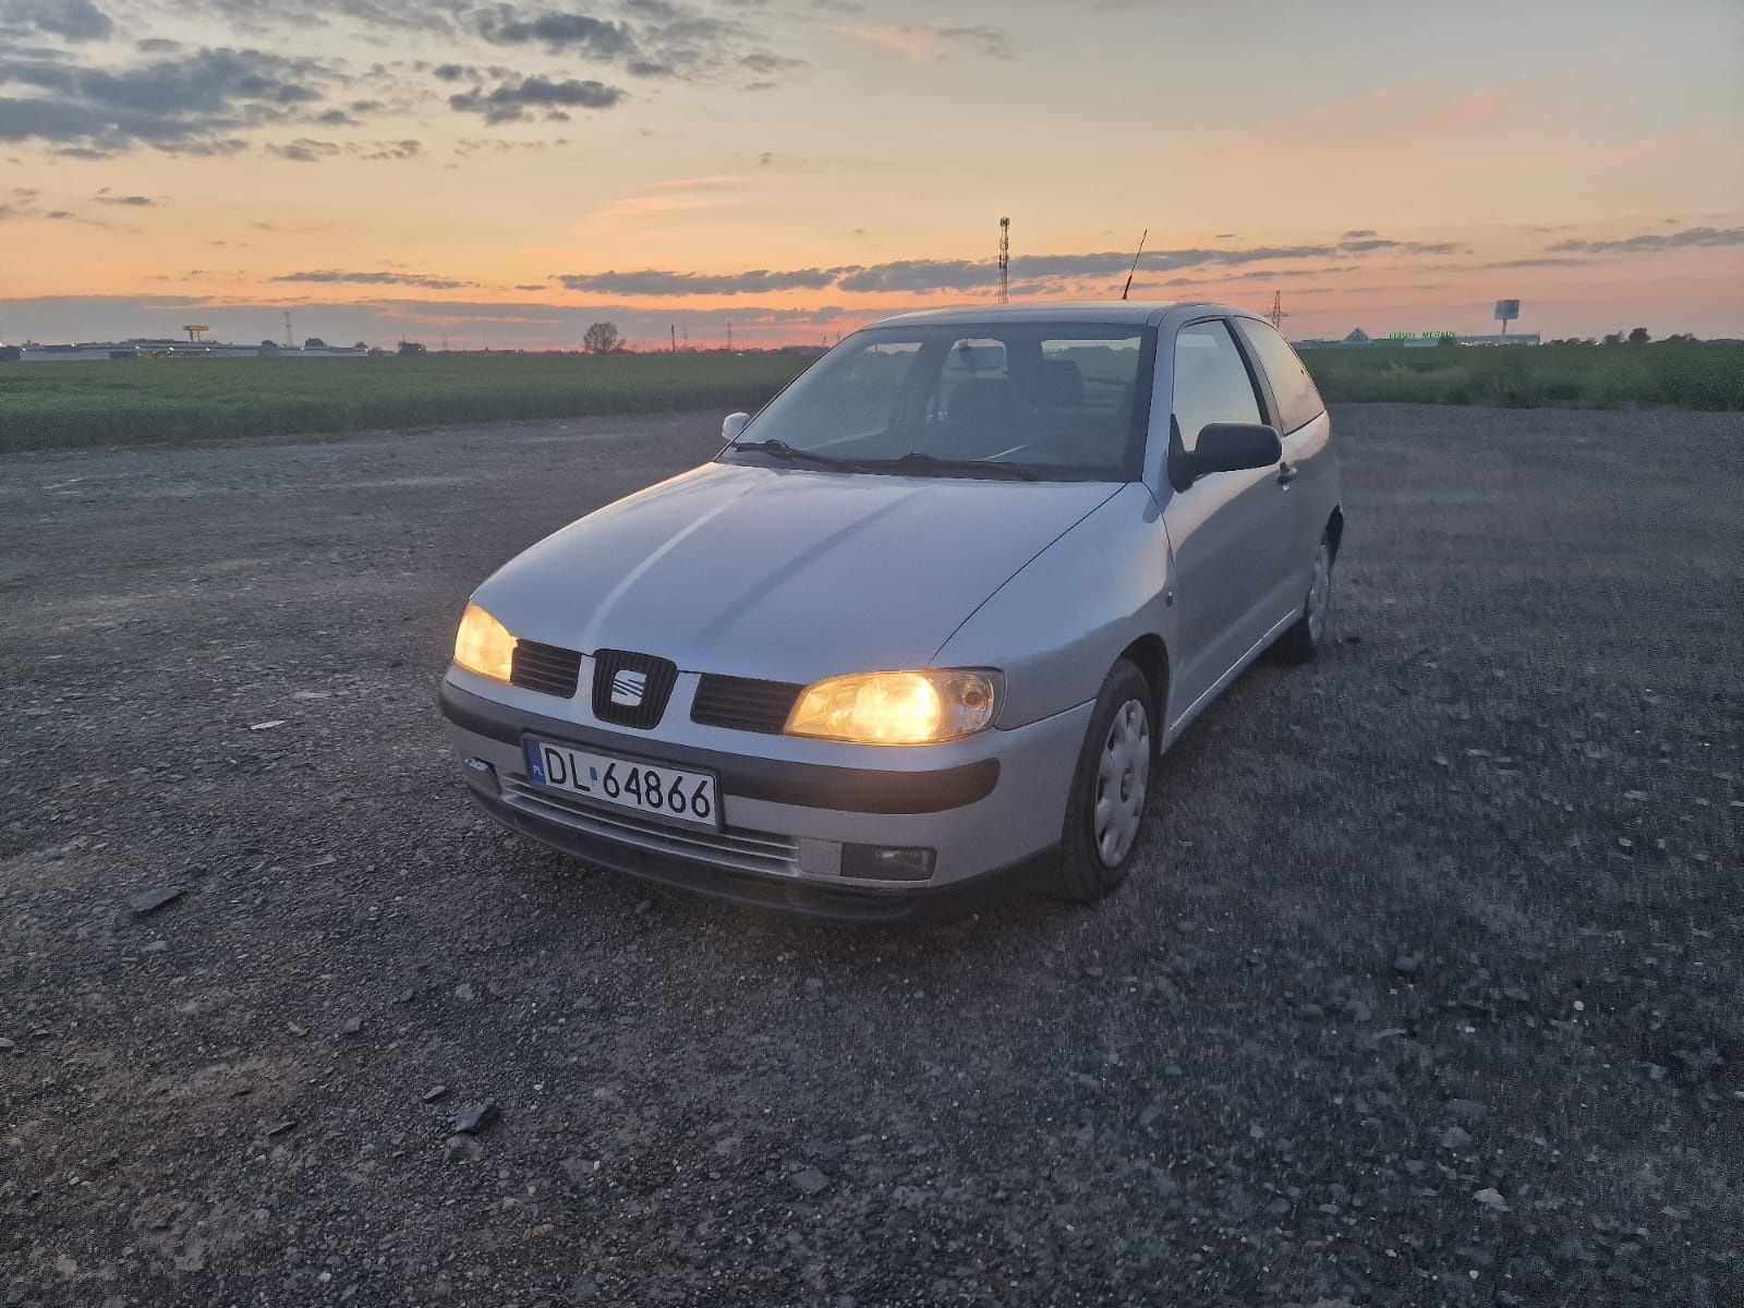
[[[1479,345],[1303,351],[1327,403],[1744,408],[1744,345]]]

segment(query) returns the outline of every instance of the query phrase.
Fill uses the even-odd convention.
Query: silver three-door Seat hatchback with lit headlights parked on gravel
[[[1120,884],[1153,766],[1325,633],[1325,406],[1207,303],[905,314],[473,595],[460,774],[591,863],[830,917]]]

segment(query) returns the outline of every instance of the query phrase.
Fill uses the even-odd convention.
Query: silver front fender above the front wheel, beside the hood
[[[1167,647],[1168,588],[1162,509],[1132,483],[994,591],[933,666],[1001,668],[996,726],[1020,727],[1093,699],[1134,640],[1156,635]]]

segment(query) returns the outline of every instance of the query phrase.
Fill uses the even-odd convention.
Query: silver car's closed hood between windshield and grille
[[[924,668],[1118,488],[705,464],[546,537],[474,598],[521,638],[685,671]]]

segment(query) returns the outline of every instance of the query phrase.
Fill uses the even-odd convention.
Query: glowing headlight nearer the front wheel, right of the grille
[[[992,724],[998,673],[863,671],[807,685],[787,717],[788,736],[855,745],[931,745]]]

